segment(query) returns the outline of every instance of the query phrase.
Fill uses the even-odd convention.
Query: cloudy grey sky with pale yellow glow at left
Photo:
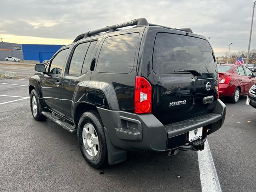
[[[69,44],[86,31],[144,17],[210,37],[216,56],[246,50],[253,0],[61,1],[0,0],[0,38],[22,44]],[[255,12],[255,11],[254,11]],[[256,48],[256,14],[251,49]]]

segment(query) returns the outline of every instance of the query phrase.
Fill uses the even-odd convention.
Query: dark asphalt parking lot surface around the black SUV
[[[207,170],[216,170],[222,191],[256,191],[256,110],[244,96],[237,104],[224,100],[224,125],[208,136],[214,164],[202,162],[204,151],[129,152],[125,162],[97,170],[76,134],[32,118],[27,85],[0,80],[1,191],[211,191]]]

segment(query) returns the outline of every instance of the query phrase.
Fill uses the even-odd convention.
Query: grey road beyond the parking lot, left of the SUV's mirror
[[[17,76],[25,77],[31,77],[34,73],[36,73],[34,66],[0,65],[1,75],[4,75],[6,71],[15,72],[17,73]]]

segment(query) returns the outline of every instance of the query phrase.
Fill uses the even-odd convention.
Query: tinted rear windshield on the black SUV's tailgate
[[[153,70],[156,74],[173,74],[174,71],[194,69],[202,72],[198,78],[214,78],[216,62],[210,44],[200,38],[179,34],[156,35]]]

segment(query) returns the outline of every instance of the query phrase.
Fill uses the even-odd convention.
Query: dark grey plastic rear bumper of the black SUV
[[[203,135],[218,130],[226,116],[226,106],[214,101],[210,114],[203,114],[174,124],[163,125],[153,114],[134,114],[97,108],[110,144],[120,150],[166,151],[185,146],[187,133],[203,127]]]

